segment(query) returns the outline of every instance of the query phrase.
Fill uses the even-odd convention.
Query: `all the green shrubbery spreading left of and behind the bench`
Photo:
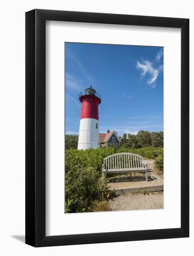
[[[109,200],[114,196],[102,181],[103,159],[115,153],[129,152],[156,159],[154,167],[163,171],[163,148],[105,147],[87,150],[66,149],[65,153],[65,212],[89,212],[94,202]],[[100,210],[101,211],[101,210]]]

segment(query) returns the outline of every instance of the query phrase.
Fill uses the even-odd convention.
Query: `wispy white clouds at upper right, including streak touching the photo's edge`
[[[163,56],[163,49],[156,54],[155,61],[142,60],[137,61],[136,68],[141,70],[141,77],[148,75],[147,84],[151,85],[152,88],[156,87],[155,81],[158,78],[158,74],[163,70],[163,66],[157,66],[156,62],[161,60]]]

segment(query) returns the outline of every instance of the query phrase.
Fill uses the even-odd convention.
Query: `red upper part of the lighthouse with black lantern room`
[[[86,89],[85,94],[80,93],[81,104],[81,119],[94,118],[98,120],[98,105],[101,103],[101,97],[90,86]]]

